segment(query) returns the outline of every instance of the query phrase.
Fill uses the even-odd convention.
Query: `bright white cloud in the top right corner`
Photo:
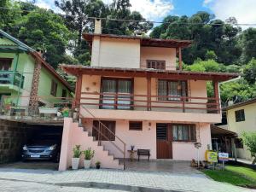
[[[204,4],[218,19],[236,17],[241,24],[256,23],[255,0],[205,0]]]

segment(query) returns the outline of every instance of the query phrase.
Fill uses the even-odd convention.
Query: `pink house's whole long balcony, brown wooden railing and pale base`
[[[92,113],[99,119],[214,123],[221,117],[219,100],[213,97],[82,92],[79,104],[84,118]]]

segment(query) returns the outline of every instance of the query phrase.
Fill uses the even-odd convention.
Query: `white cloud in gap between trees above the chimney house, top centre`
[[[103,0],[112,3],[113,0]],[[147,20],[160,20],[174,9],[171,0],[130,0],[131,11],[140,12]]]

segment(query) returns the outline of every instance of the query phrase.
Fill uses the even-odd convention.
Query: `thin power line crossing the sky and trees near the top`
[[[24,10],[24,9],[9,9],[9,8],[4,8],[0,7],[0,9],[5,9],[5,10],[12,10],[12,11],[20,11],[20,12],[38,12],[37,10]],[[39,12],[38,12],[39,13]],[[84,18],[85,20],[113,20],[113,21],[123,21],[123,22],[135,22],[135,23],[154,23],[154,24],[176,24],[176,25],[210,25],[210,26],[223,26],[225,24],[230,24],[233,26],[256,26],[256,23],[191,23],[191,22],[168,22],[168,21],[156,21],[156,20],[126,20],[126,19],[116,19],[116,18],[108,18],[108,17],[90,17],[90,16],[85,16],[85,15],[80,15],[80,16],[74,16],[74,15],[66,15],[66,14],[58,14],[55,13],[56,15],[62,15],[62,16],[69,16],[69,17],[79,17],[79,18]]]

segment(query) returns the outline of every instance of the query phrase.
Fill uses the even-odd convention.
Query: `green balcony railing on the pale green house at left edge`
[[[0,84],[14,84],[23,88],[25,77],[15,71],[0,71]]]

